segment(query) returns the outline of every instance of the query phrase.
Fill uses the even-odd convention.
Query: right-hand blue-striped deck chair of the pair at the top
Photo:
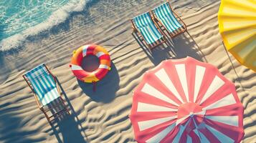
[[[152,13],[156,24],[159,22],[171,37],[186,31],[186,24],[184,24],[184,21],[182,21],[179,16],[171,9],[169,1],[161,4],[160,6],[157,6],[152,10]]]

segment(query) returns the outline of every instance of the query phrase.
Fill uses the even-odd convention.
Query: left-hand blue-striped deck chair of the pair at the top
[[[131,19],[131,22],[133,24],[133,31],[138,31],[141,34],[143,41],[146,41],[149,49],[166,42],[166,38],[161,34],[161,31],[158,31],[149,12],[134,17]]]

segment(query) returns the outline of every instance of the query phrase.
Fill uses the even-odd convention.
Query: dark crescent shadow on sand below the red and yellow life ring
[[[119,74],[115,64],[111,62],[111,70],[108,74],[95,83],[95,92],[93,91],[93,84],[85,83],[77,79],[79,86],[90,99],[95,102],[109,103],[115,99],[115,92],[119,89]]]

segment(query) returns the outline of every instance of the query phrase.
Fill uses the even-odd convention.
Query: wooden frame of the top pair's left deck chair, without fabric
[[[150,15],[151,21],[153,21],[152,16],[151,16],[151,15],[152,15],[152,14],[151,14],[151,11],[148,11],[148,13],[149,13],[149,15]],[[156,24],[155,21],[153,21],[153,24],[156,26],[156,29],[162,34],[163,38],[160,39],[160,40],[158,40],[158,41],[156,41],[156,42],[153,43],[153,44],[148,44],[148,42],[147,42],[147,41],[144,39],[144,37],[142,36],[141,32],[140,32],[140,31],[137,29],[137,27],[135,26],[133,19],[131,19],[131,23],[132,23],[133,32],[138,33],[138,36],[139,36],[138,38],[141,38],[141,39],[142,39],[142,42],[144,41],[144,43],[148,46],[148,49],[151,50],[151,49],[155,48],[156,46],[161,45],[161,44],[163,44],[163,43],[166,43],[166,44],[167,44],[166,35],[163,34],[163,31],[160,30],[160,27]]]

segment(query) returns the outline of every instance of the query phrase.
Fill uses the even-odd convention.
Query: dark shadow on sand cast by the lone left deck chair
[[[52,123],[51,129],[53,131],[53,134],[57,138],[57,141],[60,143],[87,142],[85,128],[82,127],[82,122],[85,119],[78,118],[75,109],[72,107],[72,104],[70,103],[70,100],[67,98],[67,94],[65,93],[58,79],[57,83],[60,85],[60,90],[65,97],[65,104],[67,104],[67,109],[69,109],[70,114],[64,114],[60,117],[57,117],[56,121]],[[53,104],[50,104],[49,107],[54,106],[54,102]],[[60,102],[60,99],[57,99],[55,103],[57,104],[57,102]],[[54,109],[58,110],[56,109],[56,107]],[[56,111],[52,110],[51,112],[54,113]],[[60,134],[62,134],[62,137],[60,136]]]

